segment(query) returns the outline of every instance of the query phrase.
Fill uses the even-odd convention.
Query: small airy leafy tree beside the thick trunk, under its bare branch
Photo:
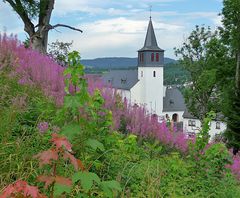
[[[60,42],[56,40],[55,42],[52,42],[49,44],[49,50],[48,54],[54,58],[55,61],[59,65],[66,66],[67,64],[67,57],[69,54],[69,50],[72,47],[73,41],[68,43]]]

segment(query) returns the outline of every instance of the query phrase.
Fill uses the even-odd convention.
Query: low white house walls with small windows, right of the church
[[[221,134],[227,128],[226,123],[220,121],[212,121],[210,123],[209,135],[210,139],[215,135]],[[198,133],[201,130],[201,122],[198,119],[183,119],[183,132],[185,133]]]

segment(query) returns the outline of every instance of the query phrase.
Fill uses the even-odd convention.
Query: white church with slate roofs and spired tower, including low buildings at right
[[[182,93],[163,84],[163,71],[164,50],[157,44],[150,17],[144,46],[138,50],[137,70],[112,70],[102,79],[131,104],[145,106],[147,112],[157,115],[160,122],[170,119],[182,123],[184,132],[196,133],[201,127],[200,121],[188,113]],[[222,122],[215,120],[212,123],[211,137],[226,129]]]

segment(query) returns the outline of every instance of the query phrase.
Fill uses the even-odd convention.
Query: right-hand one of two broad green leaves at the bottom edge
[[[122,190],[119,182],[117,182],[115,180],[103,181],[100,186],[107,197],[113,197],[114,190],[116,190],[118,192],[120,192]]]

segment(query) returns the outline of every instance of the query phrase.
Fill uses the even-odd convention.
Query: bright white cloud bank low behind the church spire
[[[103,56],[137,56],[136,51],[144,43],[148,21],[114,18],[81,24],[83,34],[68,32],[50,36],[51,41],[60,39],[74,41],[74,49],[81,52],[83,58]],[[179,42],[183,27],[156,22],[153,24],[159,46],[173,48]],[[173,55],[172,55],[173,56]]]

